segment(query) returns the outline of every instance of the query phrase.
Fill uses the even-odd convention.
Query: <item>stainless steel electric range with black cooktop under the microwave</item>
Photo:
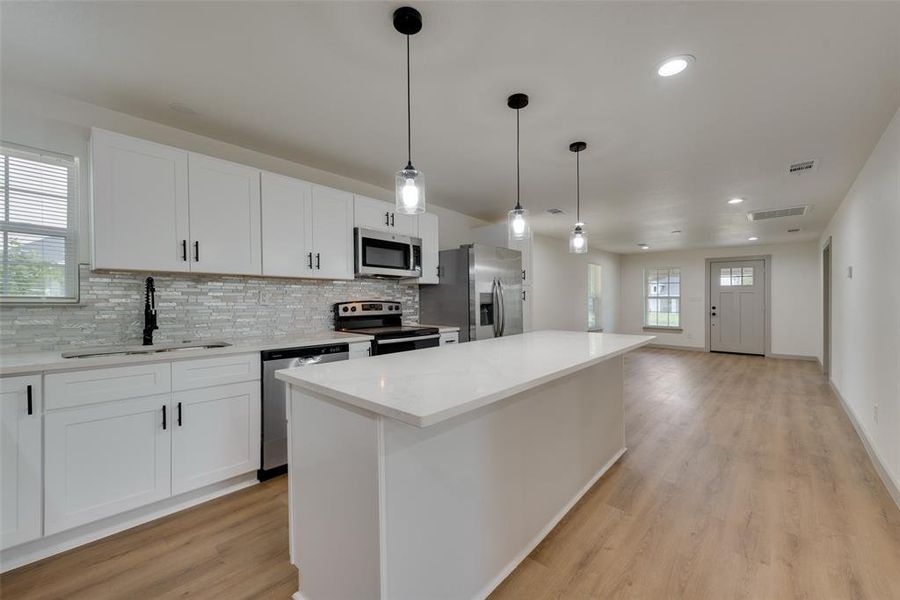
[[[335,304],[334,328],[336,331],[373,336],[373,356],[432,348],[440,345],[441,341],[437,327],[404,325],[402,305],[389,300]]]

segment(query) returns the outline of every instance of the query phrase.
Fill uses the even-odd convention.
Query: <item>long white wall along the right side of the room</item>
[[[900,490],[900,110],[822,235],[822,246],[829,237],[831,380],[896,493]]]

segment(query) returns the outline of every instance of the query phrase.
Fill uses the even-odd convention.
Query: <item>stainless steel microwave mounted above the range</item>
[[[421,277],[422,240],[356,227],[353,254],[357,277]]]

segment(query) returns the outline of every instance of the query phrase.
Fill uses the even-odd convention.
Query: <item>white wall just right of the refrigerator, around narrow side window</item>
[[[568,240],[534,237],[532,329],[587,331],[588,264],[601,266],[601,319],[606,332],[619,331],[621,257],[591,250],[569,254]]]

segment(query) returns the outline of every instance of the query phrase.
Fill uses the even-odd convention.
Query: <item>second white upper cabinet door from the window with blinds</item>
[[[191,271],[262,273],[259,171],[191,154]]]

